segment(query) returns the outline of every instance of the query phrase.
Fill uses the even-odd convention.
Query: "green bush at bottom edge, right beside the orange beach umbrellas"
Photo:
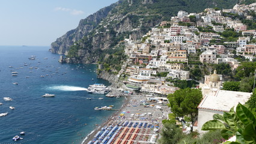
[[[177,125],[168,122],[163,124],[160,135],[162,137],[157,141],[160,144],[175,144],[184,136]]]

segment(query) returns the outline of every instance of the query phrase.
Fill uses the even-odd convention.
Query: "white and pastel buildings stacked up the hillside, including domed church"
[[[142,40],[125,40],[125,53],[129,58],[117,77],[125,77],[123,83],[126,89],[166,97],[180,89],[171,80],[192,80],[189,71],[185,70],[187,65],[224,63],[229,64],[231,70],[236,70],[241,62],[234,55],[244,56],[246,61],[255,61],[256,44],[252,40],[256,38],[256,30],[248,28],[239,19],[227,16],[231,14],[252,19],[249,11],[255,10],[256,3],[235,5],[233,9],[224,10],[207,8],[202,13],[178,11],[177,16],[152,28]],[[221,35],[229,29],[240,34],[236,40],[227,40]],[[215,44],[221,40],[227,41]],[[189,56],[198,57],[190,61]],[[203,100],[198,106],[194,131],[202,133],[202,125],[212,120],[215,113],[229,112],[231,107],[238,103],[245,104],[251,97],[250,92],[222,90],[224,81],[216,70],[197,81],[195,88],[201,88]],[[188,131],[186,128],[189,127],[183,128]]]

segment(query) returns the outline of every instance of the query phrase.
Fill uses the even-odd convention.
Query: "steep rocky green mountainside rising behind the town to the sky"
[[[97,62],[102,50],[124,37],[141,38],[151,27],[178,11],[197,13],[205,8],[232,8],[239,0],[120,0],[82,19],[78,28],[52,43],[52,52],[67,54],[69,62]]]

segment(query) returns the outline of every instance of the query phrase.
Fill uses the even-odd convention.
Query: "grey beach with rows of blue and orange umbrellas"
[[[127,95],[121,109],[92,131],[83,144],[96,141],[96,143],[155,143],[162,128],[162,119],[167,119],[169,108],[164,103],[159,105],[147,101],[147,98],[141,93]]]

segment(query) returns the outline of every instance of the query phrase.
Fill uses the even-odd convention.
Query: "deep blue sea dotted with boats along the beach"
[[[0,46],[0,113],[8,112],[0,117],[0,143],[82,143],[117,112],[94,107],[114,105],[114,109],[120,109],[123,104],[123,97],[109,98],[85,91],[94,83],[110,85],[97,78],[96,65],[61,64],[59,55],[49,49]],[[41,97],[46,93],[55,97]],[[4,97],[12,101],[5,101]],[[20,135],[21,131],[25,135]],[[23,139],[14,141],[16,135]]]

